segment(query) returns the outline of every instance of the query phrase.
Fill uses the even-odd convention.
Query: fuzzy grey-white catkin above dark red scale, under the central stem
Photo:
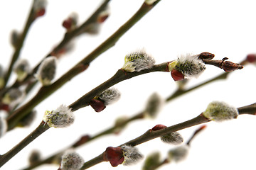
[[[110,88],[102,92],[98,97],[104,102],[105,106],[110,105],[119,100],[121,94],[115,88]]]

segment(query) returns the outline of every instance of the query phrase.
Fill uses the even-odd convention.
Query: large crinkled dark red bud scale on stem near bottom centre
[[[107,147],[103,154],[103,159],[110,162],[115,167],[124,162],[124,156],[121,147]]]

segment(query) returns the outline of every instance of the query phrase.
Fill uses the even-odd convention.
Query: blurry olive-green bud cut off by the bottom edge
[[[156,169],[156,167],[158,167],[160,164],[160,153],[154,152],[146,157],[142,170],[153,170]]]

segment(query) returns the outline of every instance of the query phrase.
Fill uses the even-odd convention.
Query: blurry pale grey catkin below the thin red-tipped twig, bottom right
[[[180,162],[185,159],[188,155],[188,146],[183,145],[180,147],[176,147],[174,149],[169,150],[168,159],[169,161],[174,160],[175,162]]]

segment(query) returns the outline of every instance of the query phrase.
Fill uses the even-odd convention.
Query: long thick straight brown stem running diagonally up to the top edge
[[[129,19],[126,23],[124,23],[123,26],[121,26],[113,35],[110,36],[105,42],[102,42],[102,44],[97,47],[94,51],[92,51],[87,57],[85,57],[83,60],[78,62],[72,69],[70,69],[68,72],[66,72],[60,79],[55,81],[55,83],[51,84],[50,86],[44,86],[42,87],[36,96],[31,99],[31,101],[28,101],[25,105],[21,106],[21,108],[18,108],[18,110],[14,111],[12,115],[8,118],[8,130],[13,129],[18,121],[23,118],[26,114],[29,113],[35,106],[38,105],[41,101],[43,101],[45,98],[50,96],[50,94],[53,94],[54,91],[59,89],[63,84],[65,84],[67,81],[70,81],[73,77],[80,74],[80,72],[83,72],[87,67],[89,66],[90,62],[94,60],[96,57],[101,55],[103,52],[108,50],[110,47],[114,45],[115,42],[119,40],[119,38],[124,35],[124,33],[129,30],[129,28],[132,28],[137,21],[139,21],[147,12],[151,10],[159,1],[156,1],[154,5],[148,6],[146,4],[142,4],[141,8],[137,11],[137,13],[132,16],[132,18]],[[96,93],[97,94],[97,93]],[[94,95],[94,94],[93,94]],[[94,96],[91,96],[92,98]],[[36,99],[36,101],[34,101]],[[91,98],[90,98],[91,99]],[[75,104],[75,103],[74,103]],[[76,110],[76,109],[75,109]]]

